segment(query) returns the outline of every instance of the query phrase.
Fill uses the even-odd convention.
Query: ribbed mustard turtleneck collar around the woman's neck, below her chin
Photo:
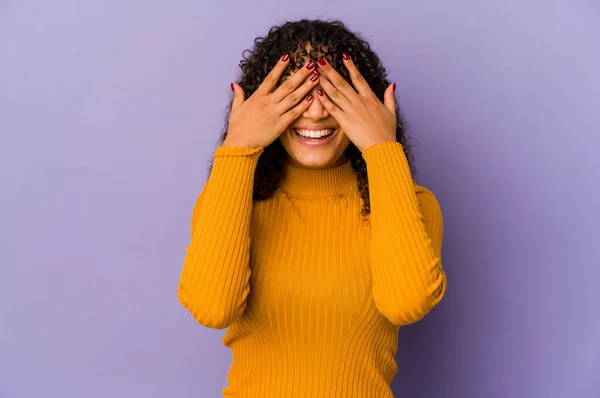
[[[285,177],[279,188],[290,196],[315,198],[336,196],[357,190],[356,172],[350,159],[323,169],[299,167],[284,161]]]

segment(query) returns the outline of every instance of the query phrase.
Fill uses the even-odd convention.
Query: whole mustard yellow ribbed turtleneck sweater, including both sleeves
[[[262,147],[221,146],[196,202],[179,300],[197,322],[228,327],[225,397],[393,397],[398,329],[446,289],[442,214],[397,142],[372,145],[371,215],[349,161],[286,163],[253,202]]]

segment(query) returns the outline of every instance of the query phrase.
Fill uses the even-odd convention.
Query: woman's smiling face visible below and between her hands
[[[310,44],[307,46],[310,49]],[[282,76],[279,84],[284,82],[290,74]],[[338,166],[346,161],[344,151],[351,141],[319,100],[318,89],[322,90],[320,84],[313,87],[310,92],[313,100],[308,109],[293,121],[278,138],[287,152],[287,161],[297,167],[326,168]],[[335,131],[329,138],[311,140],[299,137],[296,132],[298,128],[305,134],[308,133],[307,130],[335,129]]]

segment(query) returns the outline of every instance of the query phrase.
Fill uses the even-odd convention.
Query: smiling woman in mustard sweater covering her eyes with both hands
[[[224,396],[392,397],[398,328],[446,289],[395,84],[339,21],[274,27],[240,66],[179,300],[228,327]]]

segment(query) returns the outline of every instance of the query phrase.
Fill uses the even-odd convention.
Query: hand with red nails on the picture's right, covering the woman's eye
[[[319,58],[319,84],[323,88],[318,92],[319,100],[338,121],[350,141],[361,152],[374,144],[397,142],[394,85],[391,84],[386,89],[384,103],[381,103],[352,59],[344,59],[343,62],[358,92],[329,62],[325,65],[323,62],[326,61]]]

